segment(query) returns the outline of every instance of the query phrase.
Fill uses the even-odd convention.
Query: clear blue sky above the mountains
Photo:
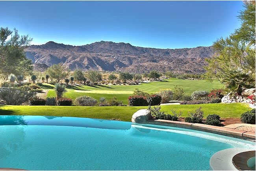
[[[0,1],[0,26],[48,41],[141,47],[210,46],[241,22],[242,1]]]

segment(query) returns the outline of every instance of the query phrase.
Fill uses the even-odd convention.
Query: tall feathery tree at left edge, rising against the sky
[[[32,62],[24,53],[31,41],[32,38],[20,36],[16,29],[13,32],[0,27],[0,76],[4,81],[7,75],[28,75],[32,71]]]

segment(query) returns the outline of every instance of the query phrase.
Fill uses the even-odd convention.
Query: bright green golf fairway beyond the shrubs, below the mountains
[[[223,87],[223,84],[219,82],[207,82],[206,80],[181,80],[177,78],[170,78],[163,82],[150,82],[142,83],[141,85],[132,85],[132,86],[114,86],[110,88],[106,86],[69,86],[68,92],[65,93],[65,97],[75,99],[78,96],[87,95],[96,100],[99,100],[100,97],[105,97],[109,100],[112,97],[116,97],[118,100],[122,100],[124,104],[127,104],[127,98],[132,95],[135,89],[146,91],[148,93],[155,93],[160,89],[174,89],[175,86],[181,86],[186,94],[191,94],[196,90],[207,90]],[[56,96],[56,93],[51,84],[43,84],[41,86],[44,89],[49,89],[47,94],[48,97]]]

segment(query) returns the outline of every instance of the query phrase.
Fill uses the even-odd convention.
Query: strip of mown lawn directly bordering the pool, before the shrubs
[[[202,107],[204,117],[209,114],[220,115],[221,118],[240,117],[241,113],[249,111],[245,104],[199,104],[199,105],[168,105],[161,106],[162,111],[171,113],[171,109],[182,111],[182,117],[189,112]],[[139,109],[147,109],[147,106],[0,106],[0,115],[41,115],[41,116],[73,116],[99,119],[120,119],[131,121],[132,115]]]

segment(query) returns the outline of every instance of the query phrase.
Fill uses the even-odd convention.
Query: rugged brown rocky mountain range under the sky
[[[133,73],[157,70],[193,74],[204,73],[204,58],[213,55],[212,47],[156,49],[104,41],[82,46],[48,42],[44,45],[31,45],[25,52],[40,71],[46,69],[46,65],[63,63],[71,70],[96,69]],[[40,69],[40,66],[43,68]]]

